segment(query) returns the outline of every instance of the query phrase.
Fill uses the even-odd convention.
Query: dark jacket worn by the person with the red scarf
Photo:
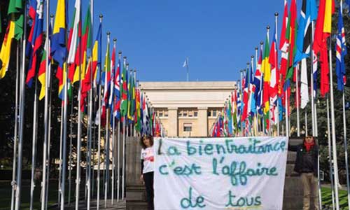
[[[301,174],[302,173],[302,161],[304,154],[307,152],[304,144],[299,144],[292,146],[288,144],[288,151],[297,152],[297,158],[295,160],[294,171]],[[314,163],[314,175],[317,176],[317,156],[318,156],[318,146],[315,144],[309,151],[311,153],[312,162]]]

